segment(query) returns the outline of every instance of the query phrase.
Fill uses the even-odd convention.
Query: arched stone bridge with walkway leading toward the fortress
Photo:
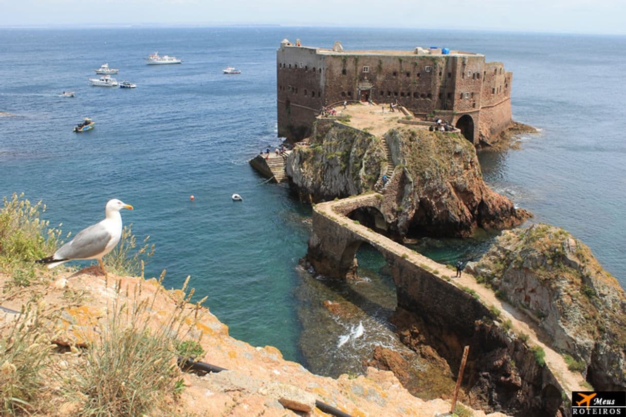
[[[563,357],[550,348],[526,314],[496,298],[493,291],[476,283],[470,274],[455,278],[448,267],[348,217],[367,208],[384,221],[385,201],[381,194],[369,193],[314,206],[307,261],[317,273],[350,278],[356,274],[359,246],[371,244],[390,267],[398,311],[418,316],[428,328],[424,331],[429,335],[427,343],[438,350],[451,369],[458,369],[463,346],[471,346],[464,377],[468,389],[472,384],[480,384],[481,378],[487,378],[485,375],[493,381],[500,380],[502,369],[495,365],[495,358],[508,357],[517,363],[515,372],[521,382],[513,387],[493,383],[496,397],[508,398],[511,404],[518,401],[508,410],[503,405],[507,412],[553,416],[560,410],[563,415],[570,415],[571,409],[563,398],[568,398],[571,391],[587,389],[581,385],[584,378],[568,369]],[[537,347],[545,351],[545,366],[535,359],[533,349]]]

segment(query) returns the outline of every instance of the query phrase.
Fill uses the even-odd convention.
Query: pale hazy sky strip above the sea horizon
[[[0,0],[0,26],[280,24],[626,34],[626,0]]]

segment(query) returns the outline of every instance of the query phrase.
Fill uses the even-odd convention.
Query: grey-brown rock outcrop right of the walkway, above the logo
[[[583,361],[596,389],[626,389],[626,294],[578,239],[547,224],[506,231],[470,268]]]

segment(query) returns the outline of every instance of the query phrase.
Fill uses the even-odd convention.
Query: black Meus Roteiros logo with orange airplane
[[[626,391],[573,391],[573,416],[626,416]]]

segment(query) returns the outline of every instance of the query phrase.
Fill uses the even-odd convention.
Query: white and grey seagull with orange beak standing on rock
[[[132,210],[133,206],[114,198],[105,206],[105,218],[100,223],[92,224],[81,230],[68,243],[64,244],[53,256],[38,259],[36,263],[48,264],[48,268],[73,259],[98,259],[100,268],[107,275],[102,257],[115,248],[121,238],[121,209]]]

